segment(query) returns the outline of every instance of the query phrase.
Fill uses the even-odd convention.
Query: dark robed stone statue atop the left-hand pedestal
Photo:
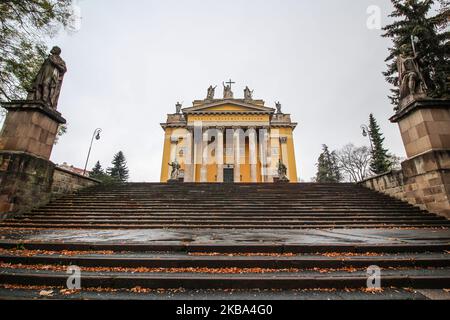
[[[60,55],[61,49],[53,47],[33,82],[27,100],[42,101],[56,110],[64,74],[67,72],[66,63]]]

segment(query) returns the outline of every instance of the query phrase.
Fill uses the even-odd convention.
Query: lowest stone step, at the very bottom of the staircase
[[[0,300],[14,299],[14,300],[218,300],[225,302],[245,301],[256,299],[259,300],[429,300],[449,299],[450,293],[442,289],[423,289],[410,290],[402,288],[383,288],[382,291],[367,291],[363,288],[350,290],[345,289],[311,289],[311,290],[146,290],[139,292],[135,289],[116,289],[105,288],[101,293],[96,289],[89,290],[89,288],[77,290],[67,294],[66,291],[61,291],[58,287],[46,287],[46,290],[51,290],[49,296],[43,297],[41,290],[36,290],[32,286],[21,286],[20,288],[7,289],[0,286]]]

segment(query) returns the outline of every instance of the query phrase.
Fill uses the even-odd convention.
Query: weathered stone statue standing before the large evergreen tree
[[[411,53],[409,45],[401,47],[401,54],[397,59],[400,100],[410,95],[425,95],[427,86],[417,58],[416,53]]]

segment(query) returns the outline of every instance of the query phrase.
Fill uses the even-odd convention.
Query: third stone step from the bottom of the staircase
[[[308,268],[380,268],[392,267],[450,267],[450,254],[409,253],[374,255],[213,255],[198,256],[173,253],[146,254],[61,254],[36,253],[20,255],[20,251],[0,253],[1,263],[23,265],[76,265],[79,267],[122,267],[122,268],[267,268],[267,269],[308,269]]]

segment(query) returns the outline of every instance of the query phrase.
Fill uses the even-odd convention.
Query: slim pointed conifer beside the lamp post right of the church
[[[392,162],[390,160],[391,156],[388,154],[388,150],[383,147],[383,134],[372,113],[369,116],[369,135],[370,140],[372,141],[370,170],[375,174],[385,173],[392,167]]]

